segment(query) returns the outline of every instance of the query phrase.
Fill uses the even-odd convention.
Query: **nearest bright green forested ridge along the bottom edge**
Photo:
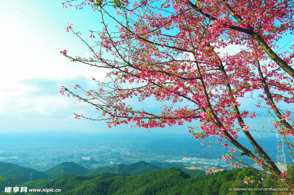
[[[261,178],[248,169],[233,169],[211,175],[190,177],[181,169],[171,167],[141,175],[116,176],[105,179],[95,174],[86,176],[63,175],[52,180],[36,180],[25,184],[29,189],[45,187],[61,189],[56,195],[213,195],[236,194],[229,187],[256,187],[256,184],[244,184],[246,176],[261,182]],[[264,194],[263,191],[247,191],[248,194]],[[246,193],[247,193],[246,192]],[[39,192],[39,194],[44,192]],[[37,195],[38,192],[32,192]]]

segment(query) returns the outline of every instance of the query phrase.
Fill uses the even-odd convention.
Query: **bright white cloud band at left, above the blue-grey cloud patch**
[[[1,72],[0,81],[14,85],[16,80],[29,78],[74,78],[76,76],[104,78],[105,71],[86,67],[81,64],[70,62],[62,55],[46,55],[46,51],[40,47],[32,50],[19,36],[19,30],[12,26],[0,23],[1,40]],[[87,52],[88,53],[88,52]],[[86,53],[86,54],[87,54]],[[78,64],[78,65],[77,65]]]

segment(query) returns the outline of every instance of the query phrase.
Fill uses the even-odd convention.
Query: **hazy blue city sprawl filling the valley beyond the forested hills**
[[[166,161],[189,163],[189,165],[205,167],[225,167],[223,160],[207,159],[201,157],[182,157],[179,160],[167,160],[174,156],[156,155],[152,150],[138,147],[133,144],[110,145],[97,143],[48,143],[44,145],[30,144],[11,150],[0,150],[0,161],[10,162],[23,167],[44,171],[61,162],[76,162],[81,164],[84,160],[96,160],[95,164],[84,163],[82,166],[95,169],[103,166],[115,167],[119,163],[144,161]],[[80,163],[81,162],[81,163]],[[191,164],[190,164],[191,163]]]

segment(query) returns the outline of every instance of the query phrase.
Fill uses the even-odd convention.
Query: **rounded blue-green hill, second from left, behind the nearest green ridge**
[[[59,165],[52,167],[44,171],[49,176],[49,179],[53,179],[61,175],[61,169],[64,174],[74,174],[74,175],[85,175],[88,174],[88,169],[85,169],[81,165],[75,162],[61,162]]]

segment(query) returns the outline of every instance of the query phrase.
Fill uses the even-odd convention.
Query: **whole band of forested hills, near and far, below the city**
[[[165,163],[155,163],[167,166]],[[18,165],[12,166],[10,163],[1,164],[0,174],[5,168],[11,171],[28,171]],[[12,168],[11,168],[12,166]],[[18,168],[18,169],[17,169]],[[63,175],[61,175],[61,170]],[[35,170],[34,170],[35,171]],[[36,171],[35,171],[36,172]],[[146,172],[146,173],[144,173]],[[143,174],[140,174],[143,173]],[[20,186],[28,189],[61,189],[54,192],[56,195],[67,194],[87,194],[87,195],[118,195],[118,194],[144,194],[144,195],[200,195],[200,194],[238,194],[236,191],[229,191],[229,188],[255,188],[261,187],[261,182],[269,186],[279,186],[283,184],[280,180],[273,178],[263,178],[257,172],[250,169],[232,169],[206,175],[201,170],[181,170],[176,167],[162,169],[157,165],[140,161],[132,165],[120,164],[117,170],[109,167],[97,169],[85,169],[73,163],[64,162],[42,173],[41,178],[32,182],[27,182],[22,178]],[[23,177],[23,175],[21,177]],[[255,180],[253,184],[245,184],[244,178],[252,176]],[[293,179],[293,167],[288,169],[288,178]],[[44,179],[46,178],[46,179]],[[278,182],[275,182],[278,181]],[[2,188],[3,189],[3,188]],[[34,195],[44,192],[31,192]],[[0,192],[1,194],[1,192]],[[243,192],[241,193],[243,194]],[[246,191],[245,194],[270,194],[268,191]]]

